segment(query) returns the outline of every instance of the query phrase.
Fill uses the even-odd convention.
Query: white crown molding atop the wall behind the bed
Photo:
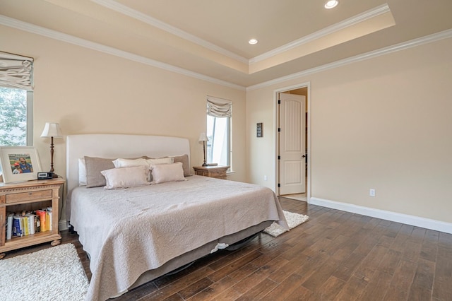
[[[73,45],[77,45],[80,47],[93,49],[98,52],[104,52],[107,54],[114,55],[116,57],[121,57],[123,59],[129,59],[131,61],[136,61],[141,64],[146,64],[149,66],[153,66],[159,69],[164,69],[166,71],[171,71],[174,73],[179,73],[184,76],[190,76],[192,78],[198,78],[202,81],[208,81],[210,83],[216,83],[218,85],[224,85],[226,87],[234,88],[237,90],[246,90],[242,85],[236,85],[234,83],[229,83],[227,81],[222,81],[217,78],[213,78],[210,76],[205,76],[201,73],[196,73],[194,71],[189,71],[183,68],[179,68],[177,66],[172,66],[170,64],[162,63],[161,61],[155,61],[154,59],[148,59],[147,57],[141,57],[137,54],[132,54],[130,52],[125,52],[114,47],[105,46],[102,44],[98,44],[95,42],[91,42],[88,40],[81,39],[80,37],[74,37],[73,35],[67,35],[66,33],[59,33],[55,30],[50,30],[47,28],[42,28],[37,25],[33,25],[30,23],[26,23],[20,20],[16,20],[13,18],[9,18],[7,16],[0,15],[0,25],[5,25],[11,28],[16,28],[18,30],[23,30],[28,33],[34,33],[36,35],[42,35],[44,37],[49,37],[54,40],[59,40],[62,42],[67,42]]]

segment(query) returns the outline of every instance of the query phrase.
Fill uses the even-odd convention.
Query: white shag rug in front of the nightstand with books
[[[73,244],[1,259],[0,279],[4,301],[83,301],[88,291],[88,278]]]

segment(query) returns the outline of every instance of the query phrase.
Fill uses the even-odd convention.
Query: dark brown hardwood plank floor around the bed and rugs
[[[116,300],[452,300],[452,235],[280,198],[309,220],[279,237],[260,234]],[[89,260],[76,245],[90,278]],[[49,244],[8,252],[34,252]]]

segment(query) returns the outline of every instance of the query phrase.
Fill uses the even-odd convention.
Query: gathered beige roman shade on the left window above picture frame
[[[0,52],[0,86],[31,91],[33,59]]]

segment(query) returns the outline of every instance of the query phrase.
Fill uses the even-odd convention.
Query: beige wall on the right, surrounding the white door
[[[274,184],[263,181],[275,170],[274,91],[309,82],[311,196],[451,223],[451,49],[441,40],[250,90],[249,180]]]

